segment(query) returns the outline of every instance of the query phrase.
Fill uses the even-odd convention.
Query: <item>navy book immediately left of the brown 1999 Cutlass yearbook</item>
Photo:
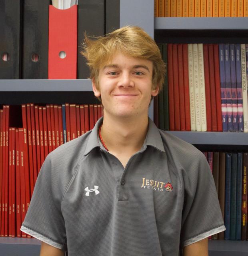
[[[237,159],[237,196],[236,196],[236,240],[241,240],[242,221],[242,163],[243,154],[238,153]]]

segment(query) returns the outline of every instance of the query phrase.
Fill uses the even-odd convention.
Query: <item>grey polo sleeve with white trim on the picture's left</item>
[[[59,173],[53,170],[49,157],[39,172],[30,206],[21,230],[59,249],[66,248],[66,231],[61,211]]]

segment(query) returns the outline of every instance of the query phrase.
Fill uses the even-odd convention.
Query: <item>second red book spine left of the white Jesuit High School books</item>
[[[177,44],[172,44],[172,61],[173,61],[175,130],[180,131],[180,100],[179,100],[179,82],[178,82]]]

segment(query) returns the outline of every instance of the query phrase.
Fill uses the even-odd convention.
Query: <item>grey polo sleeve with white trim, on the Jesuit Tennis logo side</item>
[[[181,242],[187,246],[226,230],[209,164],[198,152],[183,171],[184,206]]]

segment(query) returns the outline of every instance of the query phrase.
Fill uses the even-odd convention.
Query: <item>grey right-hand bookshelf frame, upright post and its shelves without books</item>
[[[120,25],[141,26],[157,43],[248,42],[248,18],[154,18],[153,3],[154,1],[149,0],[120,0]],[[129,6],[132,8],[130,9]],[[122,13],[128,16],[127,20],[124,21]],[[228,151],[247,150],[248,148],[247,133],[172,131],[169,133],[194,144],[200,150],[211,148]],[[210,256],[220,254],[222,256],[244,256],[248,254],[248,241],[210,240],[208,248]]]

